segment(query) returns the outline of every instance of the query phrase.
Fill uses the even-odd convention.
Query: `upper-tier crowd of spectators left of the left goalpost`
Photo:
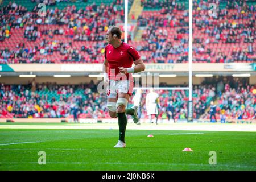
[[[38,1],[38,3],[41,1]],[[97,6],[96,3],[86,6],[84,9],[77,9],[75,5],[67,6],[63,10],[48,9],[45,17],[37,15],[39,7],[28,12],[22,6],[16,5],[15,2],[10,2],[9,5],[2,7],[1,14],[1,29],[0,39],[4,40],[11,35],[11,28],[22,28],[23,36],[28,41],[34,42],[39,39],[40,42],[49,43],[47,46],[42,44],[34,47],[23,47],[16,49],[5,49],[1,47],[0,62],[1,63],[54,63],[46,55],[52,55],[55,51],[60,55],[66,55],[64,60],[60,61],[76,61],[76,62],[91,62],[99,63],[102,60],[102,49],[104,51],[105,31],[108,26],[123,22],[124,11],[123,8],[117,9],[116,5],[120,5],[122,1],[113,1],[117,4],[105,5],[101,3]],[[21,13],[15,13],[17,7],[24,9]],[[14,8],[15,7],[15,8]],[[121,7],[121,6],[120,6]],[[9,23],[6,23],[9,22]],[[6,26],[9,24],[9,26]],[[47,26],[48,27],[42,27]],[[49,27],[53,25],[55,28]],[[64,40],[57,39],[55,35],[63,36]],[[67,38],[68,41],[67,41]],[[46,39],[46,40],[45,40]],[[66,39],[66,40],[65,40]],[[80,47],[73,47],[72,43],[75,41],[83,41]],[[85,42],[94,42],[96,46],[88,48]],[[17,42],[19,44],[19,42]],[[75,49],[75,51],[69,51]],[[96,50],[94,48],[97,48]],[[28,52],[35,49],[32,57],[28,57]],[[54,50],[54,51],[53,51]],[[78,53],[79,50],[81,53]],[[21,52],[23,59],[16,56],[16,52]],[[44,57],[40,56],[44,55]],[[83,58],[84,57],[84,58]],[[89,57],[89,60],[87,58]]]

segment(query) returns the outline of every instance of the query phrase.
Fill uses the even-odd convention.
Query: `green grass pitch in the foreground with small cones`
[[[127,130],[127,147],[113,148],[118,130],[0,129],[0,170],[256,170],[255,138],[255,132]],[[38,164],[39,151],[46,152],[45,165]],[[209,164],[210,151],[216,165]]]

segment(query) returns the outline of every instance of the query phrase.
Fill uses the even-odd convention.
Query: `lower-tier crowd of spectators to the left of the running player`
[[[33,82],[28,85],[1,84],[0,115],[14,118],[67,118],[71,117],[73,109],[79,108],[84,118],[108,117],[106,98],[96,89],[97,86],[92,82],[80,85]]]

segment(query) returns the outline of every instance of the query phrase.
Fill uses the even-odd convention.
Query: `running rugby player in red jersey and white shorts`
[[[122,31],[117,26],[111,26],[106,32],[105,60],[103,64],[104,84],[108,84],[109,115],[118,118],[119,140],[114,146],[126,147],[125,131],[127,125],[126,114],[131,115],[134,123],[138,122],[137,107],[126,108],[133,93],[132,73],[142,72],[145,65],[136,49],[122,42]],[[134,67],[133,64],[135,65]]]

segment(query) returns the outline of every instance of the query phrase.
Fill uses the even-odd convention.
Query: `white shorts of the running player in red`
[[[133,94],[133,81],[131,80],[109,80],[109,88],[107,89],[108,98],[117,98],[118,93]]]

